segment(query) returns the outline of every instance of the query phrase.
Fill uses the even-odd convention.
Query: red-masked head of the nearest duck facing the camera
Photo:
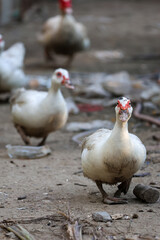
[[[118,99],[117,106],[115,107],[116,117],[121,122],[127,122],[131,115],[133,108],[131,101],[128,98],[121,97]]]

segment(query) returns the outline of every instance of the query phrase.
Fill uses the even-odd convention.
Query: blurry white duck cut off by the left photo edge
[[[23,43],[16,43],[3,51],[4,46],[5,42],[0,35],[0,93],[24,87],[27,83],[22,69],[25,56]]]

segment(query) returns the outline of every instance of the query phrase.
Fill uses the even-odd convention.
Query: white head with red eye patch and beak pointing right
[[[70,82],[69,73],[66,69],[58,68],[55,70],[52,81],[57,85],[64,85],[66,88],[74,89],[74,86]]]

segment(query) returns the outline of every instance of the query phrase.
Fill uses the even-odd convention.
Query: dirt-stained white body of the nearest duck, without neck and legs
[[[87,137],[82,147],[84,175],[108,184],[125,181],[143,165],[146,149],[133,135],[120,129],[101,129]]]

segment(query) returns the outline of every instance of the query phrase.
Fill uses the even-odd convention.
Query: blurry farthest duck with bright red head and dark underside
[[[70,66],[77,52],[90,47],[86,27],[72,15],[71,0],[59,0],[61,15],[49,18],[42,26],[37,39],[44,47],[46,60],[53,60],[53,54],[68,56]]]

